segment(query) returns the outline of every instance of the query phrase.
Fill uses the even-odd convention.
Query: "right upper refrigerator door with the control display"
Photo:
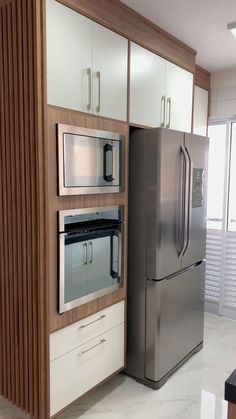
[[[185,148],[189,156],[190,176],[188,245],[182,257],[182,268],[205,258],[208,139],[185,134]]]

